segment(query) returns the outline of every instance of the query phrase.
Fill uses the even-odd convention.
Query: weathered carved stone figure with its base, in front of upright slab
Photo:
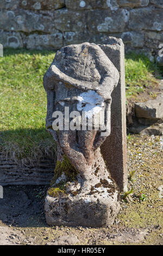
[[[101,227],[120,210],[120,190],[100,148],[110,135],[111,93],[119,78],[102,48],[88,42],[62,47],[44,76],[46,129],[57,142],[45,200],[48,224]]]

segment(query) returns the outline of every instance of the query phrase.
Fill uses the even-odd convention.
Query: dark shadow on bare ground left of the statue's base
[[[44,195],[48,186],[5,186],[0,199],[0,220],[15,227],[47,227]]]

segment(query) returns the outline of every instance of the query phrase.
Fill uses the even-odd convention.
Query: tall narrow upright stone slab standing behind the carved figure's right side
[[[99,45],[120,73],[117,87],[111,94],[111,134],[101,146],[102,155],[112,178],[121,191],[127,190],[127,138],[124,45],[122,39],[106,38]]]

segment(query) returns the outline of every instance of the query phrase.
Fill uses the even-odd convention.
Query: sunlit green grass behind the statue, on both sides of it
[[[45,130],[46,92],[42,85],[54,54],[6,49],[0,58],[0,151],[22,163],[55,155],[54,141]],[[154,81],[151,74],[156,71],[146,57],[127,55],[127,97]]]

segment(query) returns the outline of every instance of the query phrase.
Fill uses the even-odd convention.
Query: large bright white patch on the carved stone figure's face
[[[104,99],[95,90],[88,90],[81,93],[78,97],[77,109],[85,112],[85,117],[92,118],[93,115],[102,111]]]

